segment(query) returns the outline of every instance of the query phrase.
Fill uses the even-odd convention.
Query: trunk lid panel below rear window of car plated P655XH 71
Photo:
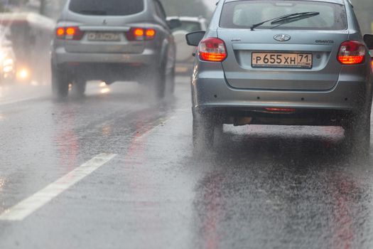
[[[225,41],[227,59],[222,63],[227,83],[233,88],[258,90],[329,90],[337,83],[341,64],[337,61],[340,44],[347,40],[347,31],[279,31],[269,29],[218,28],[218,37]],[[232,35],[234,34],[234,35]],[[280,41],[276,41],[280,40]],[[282,39],[281,39],[282,38]],[[288,40],[288,41],[281,41]],[[312,55],[312,67],[304,65],[255,66],[253,55],[289,53]],[[303,56],[302,55],[302,56]],[[261,58],[263,59],[263,58]],[[286,68],[281,68],[286,66]],[[303,67],[303,68],[302,68]]]

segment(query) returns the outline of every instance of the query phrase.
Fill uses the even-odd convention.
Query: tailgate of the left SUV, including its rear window
[[[77,26],[78,41],[65,41],[70,53],[142,53],[144,41],[129,41],[132,27],[143,28],[144,0],[70,0],[59,26]]]

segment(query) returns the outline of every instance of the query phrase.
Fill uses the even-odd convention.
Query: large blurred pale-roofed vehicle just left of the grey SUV
[[[50,53],[46,48],[50,47],[55,21],[34,13],[4,13],[0,14],[0,25],[9,30],[6,35],[9,41],[5,42],[8,45],[2,46],[2,49],[13,59],[16,79],[48,83]],[[11,60],[4,62],[11,63]],[[6,70],[12,71],[11,68]]]

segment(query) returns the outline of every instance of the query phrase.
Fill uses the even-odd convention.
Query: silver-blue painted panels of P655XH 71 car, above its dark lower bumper
[[[234,110],[245,112],[265,107],[345,112],[370,110],[372,68],[368,50],[367,60],[360,65],[341,65],[337,61],[337,51],[342,42],[363,42],[348,1],[320,0],[345,5],[347,29],[342,31],[220,28],[223,5],[232,1],[240,0],[220,1],[217,4],[205,34],[205,38],[217,37],[225,41],[227,59],[222,63],[213,63],[196,56],[191,80],[194,112],[226,109],[233,113]],[[291,36],[291,40],[276,41],[274,36],[281,33]],[[320,44],[316,40],[334,42]],[[253,51],[307,51],[313,53],[315,60],[311,69],[252,68]]]

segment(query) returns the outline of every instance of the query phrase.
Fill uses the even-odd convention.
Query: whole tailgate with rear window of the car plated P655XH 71
[[[250,30],[254,23],[304,11],[317,11],[320,14],[278,27],[269,22],[254,31]],[[234,88],[262,90],[333,88],[342,68],[337,61],[337,53],[340,44],[348,39],[346,18],[345,6],[325,2],[228,2],[223,7],[220,28],[217,30],[218,37],[227,46],[228,57],[222,63],[227,82]],[[276,41],[276,38],[280,41]],[[286,41],[281,41],[281,38]],[[254,65],[255,56],[267,54],[267,59],[277,60],[276,56],[281,54],[283,60],[289,53],[311,55],[312,66],[281,68],[281,65]]]

